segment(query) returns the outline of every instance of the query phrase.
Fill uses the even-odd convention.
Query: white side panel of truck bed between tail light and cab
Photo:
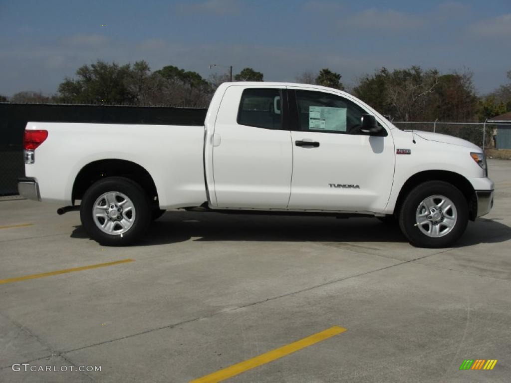
[[[198,206],[206,198],[204,126],[29,122],[48,131],[27,177],[39,182],[41,200],[71,204],[74,180],[87,164],[130,161],[152,176],[161,208]],[[104,171],[108,176],[108,170]]]

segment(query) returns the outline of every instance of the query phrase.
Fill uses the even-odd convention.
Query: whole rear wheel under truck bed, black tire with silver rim
[[[136,182],[108,177],[86,190],[80,219],[85,231],[101,245],[131,245],[143,236],[151,222],[151,204]]]

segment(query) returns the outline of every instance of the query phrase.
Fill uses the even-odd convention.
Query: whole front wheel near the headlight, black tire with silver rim
[[[468,220],[467,200],[458,188],[444,181],[417,185],[399,213],[401,231],[410,244],[425,248],[450,247],[459,240]]]

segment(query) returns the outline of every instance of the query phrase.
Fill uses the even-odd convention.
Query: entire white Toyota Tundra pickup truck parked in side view
[[[377,217],[414,246],[448,247],[493,206],[480,148],[399,130],[316,85],[224,83],[202,126],[29,122],[24,146],[19,193],[80,210],[103,245],[180,208]]]

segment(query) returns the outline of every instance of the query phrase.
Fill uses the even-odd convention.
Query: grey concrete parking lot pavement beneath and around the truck
[[[455,248],[417,249],[376,219],[169,211],[104,248],[77,212],[0,201],[0,381],[187,382],[342,326],[232,382],[479,382],[511,376],[511,162]],[[507,250],[506,250],[507,249]],[[460,371],[497,359],[492,371]],[[101,371],[13,371],[101,366]],[[68,368],[69,370],[69,368]]]

